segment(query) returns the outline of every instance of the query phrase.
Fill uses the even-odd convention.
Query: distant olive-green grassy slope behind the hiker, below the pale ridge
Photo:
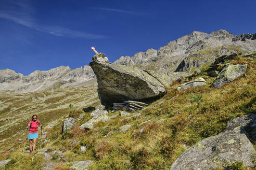
[[[95,80],[94,80],[95,81]],[[48,123],[62,120],[74,108],[99,104],[95,82],[88,82],[84,87],[39,91],[24,94],[0,93],[0,150],[10,148],[24,138],[25,126],[33,114],[46,126]],[[17,132],[20,134],[14,136]]]

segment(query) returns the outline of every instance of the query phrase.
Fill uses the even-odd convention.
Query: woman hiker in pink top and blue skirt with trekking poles
[[[29,121],[29,124],[27,126],[27,129],[29,128],[29,148],[30,148],[30,153],[34,152],[35,150],[35,143],[36,139],[38,138],[38,124],[40,124],[40,127],[42,126],[41,122],[37,120],[37,115],[32,116],[32,120]],[[33,147],[32,147],[32,141],[33,141]]]

